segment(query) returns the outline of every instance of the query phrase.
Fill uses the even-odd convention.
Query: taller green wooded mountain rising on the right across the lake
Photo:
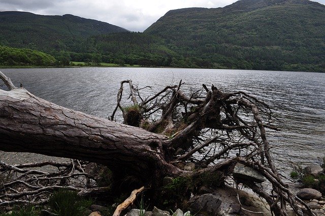
[[[307,0],[242,0],[169,11],[144,33],[212,68],[325,72],[324,14]]]

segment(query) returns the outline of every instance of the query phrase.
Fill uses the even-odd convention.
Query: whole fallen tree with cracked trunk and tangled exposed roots
[[[271,109],[245,92],[203,85],[203,90],[186,94],[180,81],[144,98],[138,86],[125,80],[109,120],[45,101],[16,88],[1,72],[0,77],[9,88],[0,90],[0,150],[103,164],[113,171],[116,184],[132,179],[133,189],[150,187],[155,198],[166,176],[190,178],[194,186],[187,191],[189,198],[206,176],[217,173],[214,182],[224,182],[236,164],[243,164],[271,182],[275,196],[240,179],[275,215],[287,215],[286,203],[303,215],[298,202],[305,203],[288,190],[270,155],[266,129],[277,130],[271,125]],[[133,103],[128,107],[121,105],[125,83]],[[118,109],[124,124],[113,121]],[[184,162],[195,169],[184,169]]]

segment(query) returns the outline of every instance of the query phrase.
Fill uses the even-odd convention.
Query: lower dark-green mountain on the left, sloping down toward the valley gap
[[[0,12],[0,44],[51,52],[81,51],[84,39],[128,30],[93,19],[66,14],[44,16],[28,12]]]

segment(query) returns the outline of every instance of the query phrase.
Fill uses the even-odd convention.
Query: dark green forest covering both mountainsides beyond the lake
[[[0,45],[45,52],[61,66],[325,72],[324,13],[324,5],[310,1],[241,1],[169,11],[136,33],[73,15],[0,12]]]

